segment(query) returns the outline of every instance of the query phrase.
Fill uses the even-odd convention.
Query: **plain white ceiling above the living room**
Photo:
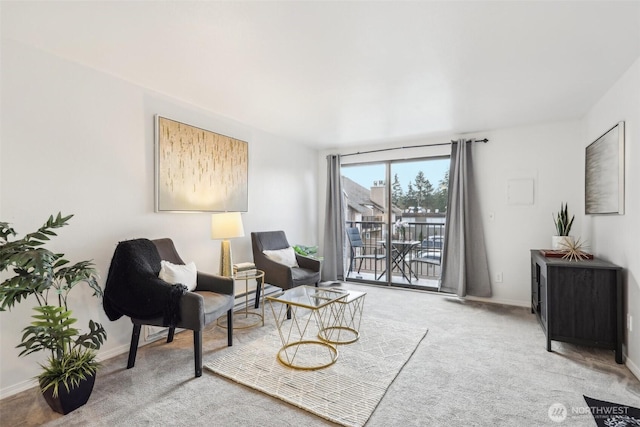
[[[640,57],[640,2],[0,5],[2,37],[319,149],[579,118]]]

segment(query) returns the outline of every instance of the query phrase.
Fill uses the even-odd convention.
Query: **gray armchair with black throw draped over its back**
[[[133,333],[127,369],[136,361],[142,325],[169,327],[167,342],[176,328],[193,330],[195,376],[202,375],[202,330],[227,315],[227,341],[233,344],[234,282],[232,278],[197,273],[197,285],[188,292],[180,284],[160,278],[160,261],[184,264],[171,239],[136,239],[116,247],[105,285],[103,305],[110,320],[131,318]]]

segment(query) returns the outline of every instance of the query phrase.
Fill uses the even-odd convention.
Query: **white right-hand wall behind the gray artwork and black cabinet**
[[[594,253],[625,269],[625,311],[633,318],[633,331],[626,331],[626,363],[640,378],[640,58],[585,116],[583,158],[584,147],[619,121],[625,122],[625,213],[589,215],[585,228]]]

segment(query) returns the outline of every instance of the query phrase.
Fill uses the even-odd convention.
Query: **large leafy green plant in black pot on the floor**
[[[38,375],[40,390],[49,406],[56,412],[69,413],[84,405],[93,390],[99,367],[96,350],[107,337],[101,324],[89,321],[89,331],[81,333],[73,325],[68,296],[78,284],[93,289],[102,297],[98,275],[91,261],[73,265],[43,247],[54,229],[67,225],[73,215],[60,213],[33,233],[11,240],[16,232],[9,223],[0,222],[0,272],[13,275],[0,283],[0,311],[11,308],[27,298],[35,298],[37,306],[33,322],[24,328],[20,356],[48,352],[49,358]],[[31,299],[32,300],[32,299]]]

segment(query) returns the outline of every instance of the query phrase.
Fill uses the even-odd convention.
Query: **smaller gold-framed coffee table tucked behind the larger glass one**
[[[360,324],[362,323],[362,311],[366,292],[347,290],[345,298],[337,300],[334,304],[339,308],[335,311],[337,319],[329,321],[330,326],[320,329],[318,338],[329,344],[352,344],[360,338]],[[353,338],[342,338],[342,331]],[[334,333],[337,336],[334,338]]]

